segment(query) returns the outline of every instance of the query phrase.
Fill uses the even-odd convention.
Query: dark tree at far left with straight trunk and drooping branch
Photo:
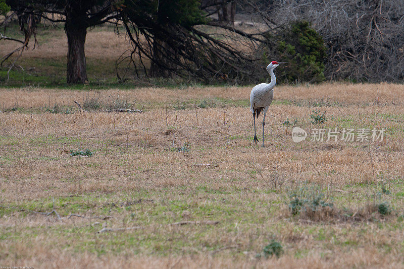
[[[24,49],[28,48],[31,35],[36,40],[36,23],[41,19],[51,23],[64,23],[68,39],[68,83],[86,83],[86,60],[85,60],[85,38],[87,28],[111,22],[119,17],[119,10],[123,4],[116,0],[102,1],[79,1],[79,0],[16,0],[7,1],[11,10],[17,14],[20,28],[24,32],[23,45],[0,59],[3,64],[12,55],[17,54],[16,60],[21,56]],[[56,15],[56,17],[55,17]],[[20,20],[23,18],[23,20]],[[28,20],[25,20],[28,18]],[[30,18],[32,20],[30,21]],[[7,39],[6,39],[7,40]],[[14,67],[16,60],[11,63],[10,70]],[[8,72],[8,74],[9,74]]]

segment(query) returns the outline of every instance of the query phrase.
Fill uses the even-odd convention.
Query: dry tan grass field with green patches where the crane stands
[[[404,267],[404,86],[276,87],[265,148],[249,92],[0,89],[0,265]]]

